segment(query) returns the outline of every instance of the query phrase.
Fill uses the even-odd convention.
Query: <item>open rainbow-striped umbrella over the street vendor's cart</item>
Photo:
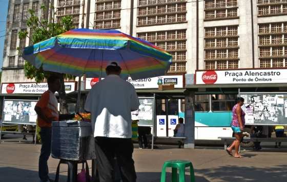
[[[117,62],[122,78],[164,75],[172,56],[149,42],[117,30],[74,29],[26,47],[23,58],[36,68],[75,76],[105,77]]]

